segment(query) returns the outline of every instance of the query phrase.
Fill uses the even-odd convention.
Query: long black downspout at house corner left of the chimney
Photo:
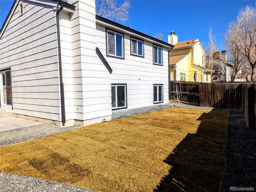
[[[59,23],[59,14],[63,9],[63,4],[61,4],[60,9],[57,11],[56,20],[57,20],[57,37],[58,37],[58,59],[59,59],[59,72],[60,72],[60,100],[61,100],[61,118],[62,125],[66,123],[66,114],[65,114],[65,102],[64,102],[64,86],[62,81],[62,63],[61,63],[61,50],[60,50],[60,23]]]

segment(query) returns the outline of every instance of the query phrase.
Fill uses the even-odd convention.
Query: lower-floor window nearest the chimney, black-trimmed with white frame
[[[127,108],[126,84],[112,84],[112,110]]]

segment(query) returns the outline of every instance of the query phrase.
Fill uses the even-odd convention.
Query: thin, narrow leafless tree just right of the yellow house
[[[212,53],[217,51],[218,47],[216,45],[216,35],[217,33],[215,33],[214,35],[212,34],[212,24],[209,27],[209,31],[207,31],[208,37],[209,37],[209,41],[208,41],[208,46],[206,47],[206,55],[210,58],[210,62],[208,63],[208,65],[206,66],[209,69],[213,69],[213,64],[212,64]]]

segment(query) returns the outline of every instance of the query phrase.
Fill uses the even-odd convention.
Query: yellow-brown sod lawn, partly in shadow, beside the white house
[[[229,112],[168,108],[0,147],[0,171],[114,192],[219,191]]]

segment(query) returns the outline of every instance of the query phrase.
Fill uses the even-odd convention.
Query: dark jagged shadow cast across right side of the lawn
[[[188,133],[164,160],[172,167],[154,192],[220,190],[227,139],[227,129],[218,120],[221,113],[212,110],[198,118],[197,132]]]

